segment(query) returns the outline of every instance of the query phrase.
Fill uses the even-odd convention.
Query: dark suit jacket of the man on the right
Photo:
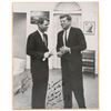
[[[58,33],[57,51],[63,47],[63,30]],[[81,51],[87,48],[85,39],[82,31],[78,28],[70,29],[67,47],[71,49],[71,53],[65,53],[61,58],[61,63],[69,63],[70,70],[74,73],[81,73],[82,60]]]

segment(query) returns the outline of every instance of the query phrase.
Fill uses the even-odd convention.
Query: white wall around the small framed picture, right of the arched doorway
[[[95,31],[94,34],[84,34],[87,40],[87,46],[89,50],[95,50],[95,73],[98,73],[98,49],[99,49],[99,4],[97,2],[81,2],[79,3],[82,9],[82,30],[84,21],[94,21]]]

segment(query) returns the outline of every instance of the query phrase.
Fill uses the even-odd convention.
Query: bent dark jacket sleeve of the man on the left
[[[34,38],[32,36],[29,36],[27,41],[27,54],[37,59],[42,59],[44,53],[36,51],[34,43],[36,43]]]

